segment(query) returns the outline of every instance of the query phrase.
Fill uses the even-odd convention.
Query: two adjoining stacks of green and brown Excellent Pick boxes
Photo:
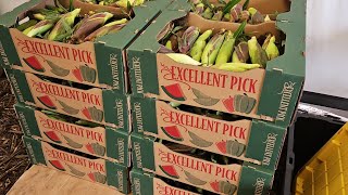
[[[34,164],[125,194],[130,179],[133,193],[144,195],[268,193],[304,81],[304,0],[250,0],[264,14],[277,13],[273,29],[286,38],[284,54],[245,73],[160,52],[158,35],[172,21],[236,30],[190,12],[187,0],[146,2],[122,30],[80,44],[15,28],[28,10],[52,3],[32,0],[0,16],[0,64]]]

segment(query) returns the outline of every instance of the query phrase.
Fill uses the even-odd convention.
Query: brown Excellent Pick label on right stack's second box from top
[[[245,156],[251,120],[219,120],[175,109],[162,101],[156,105],[157,136],[225,156]]]

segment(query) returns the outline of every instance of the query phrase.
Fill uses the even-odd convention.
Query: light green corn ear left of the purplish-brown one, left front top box
[[[55,40],[59,35],[73,32],[72,28],[74,25],[76,16],[79,14],[80,9],[75,9],[72,12],[64,14],[59,22],[54,25],[53,29],[51,30],[50,35],[48,36],[48,40]]]

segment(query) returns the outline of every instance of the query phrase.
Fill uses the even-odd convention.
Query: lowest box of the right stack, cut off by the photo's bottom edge
[[[153,194],[153,195],[166,195],[166,194],[182,194],[182,195],[198,195],[191,191],[175,187],[165,183],[163,180],[156,178],[154,174],[142,172],[133,169],[130,171],[132,192],[133,195]],[[186,185],[175,181],[175,184]],[[192,187],[195,188],[195,187]]]

